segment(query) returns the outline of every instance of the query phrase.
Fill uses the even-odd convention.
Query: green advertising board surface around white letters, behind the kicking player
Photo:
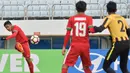
[[[35,73],[60,73],[61,72],[62,61],[64,58],[61,54],[61,50],[32,50],[31,52],[32,54],[35,54],[39,57],[39,63],[37,67],[40,70],[40,72],[35,72]],[[0,50],[0,64],[3,60],[2,56],[4,55],[8,55],[8,57],[6,57],[7,62],[4,67],[4,70],[0,71],[0,73],[29,73],[29,72],[24,71],[24,69],[26,69],[25,61],[24,61],[24,58],[21,58],[19,56],[18,56],[17,61],[21,61],[22,65],[19,65],[17,67],[22,68],[22,71],[11,72],[10,66],[12,66],[13,64],[16,64],[15,62],[12,64],[11,59],[15,58],[13,55],[20,55],[20,53],[18,53],[15,50]]]

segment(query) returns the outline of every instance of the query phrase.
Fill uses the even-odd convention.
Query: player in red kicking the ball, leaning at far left
[[[16,43],[20,43],[23,47],[24,52],[22,52],[22,54],[28,63],[30,73],[34,73],[33,63],[32,63],[31,58],[30,58],[30,47],[29,47],[29,43],[28,43],[28,38],[26,37],[26,35],[24,34],[24,32],[22,31],[22,29],[19,26],[12,25],[10,21],[6,21],[4,23],[4,27],[8,31],[12,32],[12,35],[10,35],[6,38],[2,38],[2,40],[10,40],[12,38],[16,38]],[[17,49],[18,47],[15,46],[15,48]]]

